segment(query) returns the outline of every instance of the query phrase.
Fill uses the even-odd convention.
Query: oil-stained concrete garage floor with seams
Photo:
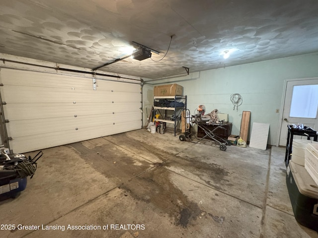
[[[284,148],[224,152],[140,129],[43,153],[0,202],[0,223],[17,227],[1,238],[318,238],[293,216]]]

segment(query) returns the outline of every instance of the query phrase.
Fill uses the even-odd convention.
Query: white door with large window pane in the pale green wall
[[[318,129],[317,105],[318,78],[287,81],[279,138],[280,146],[286,146],[287,125],[299,123],[310,126],[314,130]],[[301,138],[301,136],[294,136],[294,138]]]

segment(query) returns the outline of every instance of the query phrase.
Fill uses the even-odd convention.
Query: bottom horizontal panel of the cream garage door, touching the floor
[[[27,140],[25,137],[13,138],[10,141],[10,147],[14,148],[14,153],[25,153],[136,129],[140,129],[140,123],[138,122],[117,123],[102,128],[88,127],[79,130],[51,132],[28,136]]]

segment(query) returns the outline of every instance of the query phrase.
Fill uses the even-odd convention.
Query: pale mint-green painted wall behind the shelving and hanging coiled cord
[[[278,145],[281,108],[286,79],[318,76],[318,53],[275,60],[242,64],[231,67],[190,73],[183,78],[154,81],[143,87],[144,112],[150,113],[153,104],[153,87],[159,84],[177,83],[184,87],[188,97],[187,108],[193,114],[200,104],[207,112],[218,109],[229,114],[233,122],[232,134],[239,135],[242,111],[251,112],[250,130],[253,122],[269,123],[268,144]],[[190,68],[191,72],[191,68]],[[231,94],[239,93],[243,103],[233,110]],[[276,113],[279,109],[279,113]],[[145,121],[146,114],[145,115]],[[300,121],[301,122],[301,121]],[[248,140],[250,138],[250,132]]]

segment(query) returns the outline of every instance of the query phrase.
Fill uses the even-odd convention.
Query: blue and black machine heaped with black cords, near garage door
[[[32,159],[22,154],[7,154],[4,148],[0,149],[0,200],[15,198],[26,188],[26,178],[30,176],[32,179],[36,162],[42,155],[40,151]]]

